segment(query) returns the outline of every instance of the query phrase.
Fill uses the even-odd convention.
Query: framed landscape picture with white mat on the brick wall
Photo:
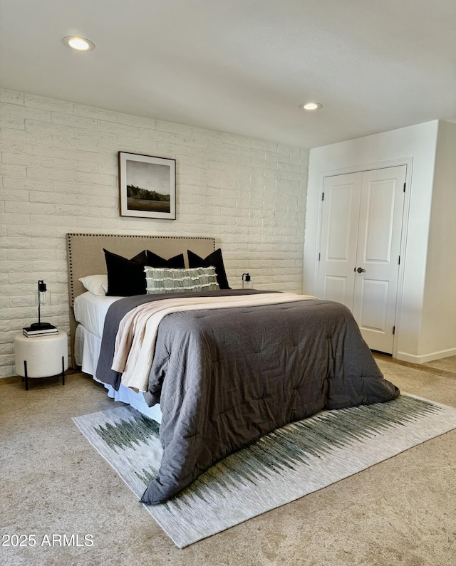
[[[175,220],[176,160],[118,152],[120,216]]]

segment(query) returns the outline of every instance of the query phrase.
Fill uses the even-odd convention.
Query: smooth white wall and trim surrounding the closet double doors
[[[395,356],[414,362],[427,361],[430,359],[429,355],[436,353],[432,350],[433,345],[420,340],[420,334],[423,325],[427,246],[430,236],[438,126],[439,122],[434,120],[318,147],[311,150],[309,156],[304,243],[306,293],[317,293],[319,219],[325,174],[354,172],[388,165],[408,165]]]

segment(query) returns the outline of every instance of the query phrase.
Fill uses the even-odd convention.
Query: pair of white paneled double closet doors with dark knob
[[[407,168],[326,177],[318,296],[352,312],[371,350],[393,353]]]

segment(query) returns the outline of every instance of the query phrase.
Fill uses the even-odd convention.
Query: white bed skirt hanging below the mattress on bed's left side
[[[119,390],[116,391],[110,385],[101,382],[100,379],[97,379],[96,370],[98,357],[100,357],[100,347],[101,339],[98,336],[93,335],[82,325],[78,325],[76,328],[74,345],[76,365],[81,366],[83,372],[90,374],[95,381],[103,384],[103,386],[108,389],[108,397],[111,397],[115,401],[127,403],[131,405],[131,407],[137,409],[140,413],[145,416],[149,416],[150,419],[154,419],[154,421],[160,423],[162,421],[160,405],[148,407],[144,397],[142,397],[142,393],[135,393],[131,389],[128,389],[128,387],[123,387],[123,385],[120,385]]]

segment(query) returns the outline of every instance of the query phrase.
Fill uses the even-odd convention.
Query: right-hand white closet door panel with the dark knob
[[[353,315],[372,350],[393,353],[406,167],[363,172]],[[361,273],[360,273],[361,272]]]

